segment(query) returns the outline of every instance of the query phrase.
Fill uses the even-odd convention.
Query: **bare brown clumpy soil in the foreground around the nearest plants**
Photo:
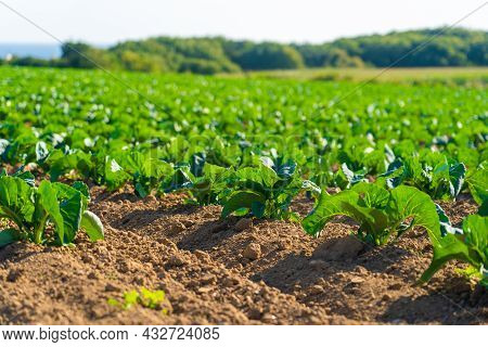
[[[421,230],[371,249],[344,218],[313,239],[291,222],[220,221],[220,207],[183,195],[92,194],[105,241],[0,249],[0,324],[488,323],[486,291],[455,262],[415,285],[432,254]],[[468,200],[442,206],[454,223],[476,210]],[[141,286],[164,290],[169,312],[107,304]]]

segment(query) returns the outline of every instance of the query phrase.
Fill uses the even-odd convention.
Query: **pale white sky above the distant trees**
[[[488,30],[480,0],[0,0],[0,42],[56,43],[3,4],[61,41],[110,44],[150,36],[224,36],[280,42],[451,25]]]

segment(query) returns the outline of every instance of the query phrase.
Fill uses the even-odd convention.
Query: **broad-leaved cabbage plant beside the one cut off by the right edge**
[[[400,185],[389,192],[361,182],[335,195],[323,191],[301,224],[307,233],[317,236],[338,215],[356,220],[359,239],[375,246],[388,243],[393,236],[401,236],[415,226],[426,229],[432,237],[440,236],[434,202],[413,187]]]

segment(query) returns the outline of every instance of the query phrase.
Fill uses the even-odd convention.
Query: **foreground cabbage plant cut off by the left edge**
[[[72,187],[42,181],[39,188],[20,177],[0,177],[0,218],[15,227],[0,231],[0,246],[15,241],[36,244],[73,244],[84,229],[91,241],[103,240],[103,226],[87,210],[89,201],[85,183]]]

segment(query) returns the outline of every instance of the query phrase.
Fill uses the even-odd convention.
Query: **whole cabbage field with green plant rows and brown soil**
[[[2,67],[0,323],[486,323],[487,104]]]

